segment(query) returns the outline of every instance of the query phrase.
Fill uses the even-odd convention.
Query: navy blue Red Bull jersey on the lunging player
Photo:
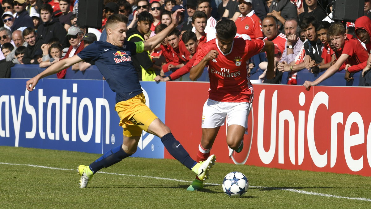
[[[109,87],[116,92],[118,103],[142,93],[131,55],[143,50],[143,42],[125,41],[124,45],[119,47],[106,41],[95,41],[77,55],[85,62],[95,61]]]

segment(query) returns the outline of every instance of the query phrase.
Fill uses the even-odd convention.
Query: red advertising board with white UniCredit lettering
[[[193,158],[208,89],[208,83],[166,86],[166,124]],[[223,126],[211,153],[221,163],[371,176],[370,93],[367,87],[306,91],[303,86],[255,84],[243,151],[229,156]],[[165,158],[171,158],[167,151]]]

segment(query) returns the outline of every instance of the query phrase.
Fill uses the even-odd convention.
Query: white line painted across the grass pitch
[[[32,165],[32,164],[16,164],[16,163],[2,163],[5,165],[22,165],[22,166],[30,166],[30,167],[37,167],[37,168],[47,168],[47,169],[53,169],[53,170],[64,170],[64,171],[75,171],[75,169],[67,169],[67,168],[55,168],[55,167],[48,167],[43,165]],[[186,182],[190,183],[192,181],[186,181],[186,180],[180,180],[180,179],[170,179],[170,178],[163,178],[163,177],[156,177],[156,176],[139,176],[139,175],[132,175],[132,174],[121,174],[121,173],[108,173],[108,172],[101,172],[98,173],[102,174],[111,174],[111,175],[118,175],[118,176],[131,176],[131,177],[142,177],[142,178],[151,178],[151,179],[161,179],[161,180],[170,180],[170,181],[179,181],[179,182]],[[214,186],[220,186],[221,184],[214,184],[214,183],[205,183],[207,185],[214,185]],[[364,197],[344,197],[344,196],[337,196],[332,194],[324,194],[324,193],[317,193],[317,192],[307,192],[304,190],[298,190],[298,189],[283,189],[283,188],[277,188],[277,187],[263,187],[263,186],[249,186],[252,188],[262,188],[262,189],[276,189],[276,190],[284,190],[289,192],[296,192],[300,194],[309,194],[309,195],[317,195],[317,196],[323,196],[323,197],[333,197],[333,198],[341,198],[341,199],[349,199],[349,200],[362,200],[362,201],[368,201],[371,202],[371,199],[364,198]]]

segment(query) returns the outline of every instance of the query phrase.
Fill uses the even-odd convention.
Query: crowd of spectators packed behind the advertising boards
[[[258,73],[263,82],[280,83],[288,71],[287,84],[296,84],[300,70],[329,69],[329,76],[345,70],[347,81],[362,71],[359,85],[371,84],[371,0],[364,0],[364,16],[355,23],[332,20],[332,0],[105,0],[99,29],[79,26],[78,1],[0,0],[0,70],[14,64],[48,67],[93,41],[106,41],[105,23],[112,14],[128,17],[128,41],[144,41],[170,25],[172,13],[184,8],[179,25],[161,44],[132,56],[140,80],[171,81],[188,73],[197,49],[216,38],[216,23],[231,19],[236,37],[274,43],[275,78],[265,78],[265,53],[249,60],[249,74]],[[66,70],[83,71],[91,65],[94,62],[75,64],[58,78],[64,78]]]

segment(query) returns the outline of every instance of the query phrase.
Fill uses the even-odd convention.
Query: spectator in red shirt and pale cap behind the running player
[[[247,34],[251,39],[263,39],[262,21],[252,10],[252,0],[239,0],[241,15],[234,21],[237,33]]]

